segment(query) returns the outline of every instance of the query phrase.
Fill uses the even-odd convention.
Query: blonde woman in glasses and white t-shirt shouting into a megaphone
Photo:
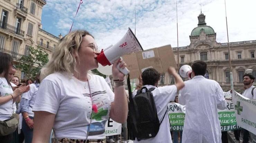
[[[33,143],[48,142],[52,128],[58,142],[106,142],[104,125],[109,117],[124,123],[128,104],[124,74],[112,67],[115,93],[106,81],[90,70],[98,67],[99,54],[93,36],[77,30],[63,37],[51,60],[41,69],[41,84],[33,111]],[[42,80],[43,79],[43,80]]]

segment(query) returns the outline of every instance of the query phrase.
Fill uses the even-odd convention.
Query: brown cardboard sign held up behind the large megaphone
[[[138,78],[148,67],[155,68],[159,73],[167,72],[169,66],[177,68],[171,45],[139,51],[122,56],[130,70],[130,79]]]

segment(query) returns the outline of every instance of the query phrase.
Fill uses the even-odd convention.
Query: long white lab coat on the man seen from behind
[[[185,81],[179,103],[186,106],[182,143],[221,143],[218,110],[227,102],[220,85],[203,76]]]

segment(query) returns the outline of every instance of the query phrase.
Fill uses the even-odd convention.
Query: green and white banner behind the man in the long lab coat
[[[225,94],[226,98],[230,98],[230,92]],[[232,100],[227,101],[227,108],[225,110],[218,110],[219,120],[221,125],[221,131],[237,130],[236,116],[235,116],[235,105]],[[186,107],[179,103],[168,104],[168,115],[170,119],[171,129],[173,131],[183,130]]]

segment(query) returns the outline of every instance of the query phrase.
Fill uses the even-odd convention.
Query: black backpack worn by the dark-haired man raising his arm
[[[146,92],[142,93],[143,89]],[[155,88],[141,88],[130,100],[131,128],[138,141],[155,137],[159,131],[161,122],[158,120],[154,96],[151,91]]]

